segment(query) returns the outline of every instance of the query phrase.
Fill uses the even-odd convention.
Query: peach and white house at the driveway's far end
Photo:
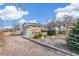
[[[38,23],[24,23],[22,33],[26,37],[34,37],[35,34],[46,29],[46,27],[43,27],[41,24]]]

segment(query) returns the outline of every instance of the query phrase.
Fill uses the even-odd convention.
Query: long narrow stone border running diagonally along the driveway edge
[[[59,52],[62,52],[62,53],[64,53],[64,54],[67,54],[67,55],[69,55],[69,56],[78,56],[78,54],[72,53],[72,52],[70,52],[70,51],[66,51],[66,50],[63,50],[63,49],[61,49],[61,48],[58,48],[58,47],[55,47],[55,46],[52,46],[52,45],[48,45],[48,44],[45,44],[45,43],[43,43],[43,42],[40,42],[40,41],[31,39],[31,38],[26,38],[25,36],[22,36],[22,37],[25,38],[25,39],[31,40],[31,41],[33,41],[33,42],[35,42],[35,43],[41,44],[41,45],[43,45],[43,46],[45,46],[45,47],[55,49],[55,50],[57,50],[57,51],[59,51]]]

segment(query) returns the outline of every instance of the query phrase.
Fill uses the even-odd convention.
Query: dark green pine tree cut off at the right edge
[[[70,50],[79,53],[79,19],[75,27],[69,32],[67,46]]]

